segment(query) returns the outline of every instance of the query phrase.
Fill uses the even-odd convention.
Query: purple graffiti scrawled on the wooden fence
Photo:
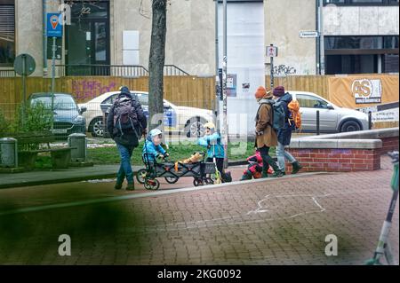
[[[116,90],[116,87],[114,82],[103,85],[101,82],[94,80],[72,81],[72,93],[78,101],[96,98],[100,94]]]

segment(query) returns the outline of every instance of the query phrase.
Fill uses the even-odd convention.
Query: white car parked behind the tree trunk
[[[119,91],[107,92],[91,101],[80,104],[87,111],[84,113],[87,131],[93,137],[104,137],[104,113],[101,110],[111,107],[119,95]],[[136,96],[148,116],[148,92],[131,91]],[[184,134],[188,137],[204,136],[203,125],[212,122],[212,111],[202,108],[175,106],[164,100],[164,130],[165,132]]]

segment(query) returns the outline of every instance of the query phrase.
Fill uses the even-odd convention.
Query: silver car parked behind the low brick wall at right
[[[320,114],[321,132],[347,132],[368,130],[368,114],[335,106],[332,102],[315,93],[288,91],[300,104],[302,131],[316,131],[316,111]]]

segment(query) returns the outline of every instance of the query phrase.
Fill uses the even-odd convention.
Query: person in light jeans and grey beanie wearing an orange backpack
[[[282,127],[277,129],[277,141],[278,145],[276,147],[276,157],[278,160],[279,169],[282,171],[283,175],[285,175],[285,164],[284,160],[292,163],[292,174],[297,174],[300,169],[302,169],[299,161],[297,161],[291,153],[285,151],[284,147],[291,144],[292,139],[292,130],[296,129],[296,123],[293,120],[292,112],[289,109],[289,105],[292,103],[292,95],[288,92],[285,92],[283,86],[278,86],[274,90],[274,96],[276,99],[276,106],[282,107],[284,110],[284,120],[281,121]],[[282,118],[280,118],[282,119]]]

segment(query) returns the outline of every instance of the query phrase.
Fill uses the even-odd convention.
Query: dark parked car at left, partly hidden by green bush
[[[51,93],[34,93],[29,96],[28,104],[35,106],[41,102],[46,108],[52,109]],[[68,93],[54,94],[54,127],[53,134],[68,137],[70,134],[85,133],[86,121],[82,114],[84,107],[79,108],[72,95]]]

